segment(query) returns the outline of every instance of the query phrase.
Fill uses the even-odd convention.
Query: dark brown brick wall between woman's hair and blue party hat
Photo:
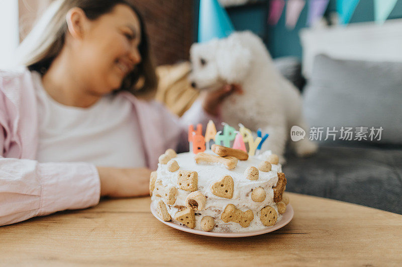
[[[193,42],[192,0],[131,0],[145,20],[156,65],[188,60]]]

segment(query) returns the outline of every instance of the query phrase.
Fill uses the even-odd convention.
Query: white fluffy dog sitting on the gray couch
[[[242,123],[253,131],[269,134],[262,151],[270,149],[281,157],[290,127],[307,130],[299,91],[275,69],[271,56],[259,37],[251,32],[235,32],[225,39],[193,44],[190,50],[194,88],[211,90],[224,84],[238,84],[243,94],[232,94],[223,103],[222,119],[229,125]],[[307,134],[308,135],[308,134]],[[317,151],[306,139],[291,142],[298,156]]]

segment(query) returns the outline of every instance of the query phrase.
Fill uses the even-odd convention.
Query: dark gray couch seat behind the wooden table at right
[[[321,146],[310,158],[286,155],[286,191],[402,214],[402,149]]]

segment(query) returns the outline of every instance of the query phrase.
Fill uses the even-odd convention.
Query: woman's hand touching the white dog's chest
[[[203,102],[204,110],[213,116],[219,115],[219,107],[222,102],[233,93],[241,94],[243,91],[239,85],[234,84],[226,84],[218,90],[203,91],[200,94],[200,98]]]

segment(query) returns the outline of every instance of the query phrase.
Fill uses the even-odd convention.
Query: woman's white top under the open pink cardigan
[[[65,106],[48,95],[38,73],[33,77],[39,116],[39,162],[145,167],[139,123],[129,100],[107,95],[89,108]]]

